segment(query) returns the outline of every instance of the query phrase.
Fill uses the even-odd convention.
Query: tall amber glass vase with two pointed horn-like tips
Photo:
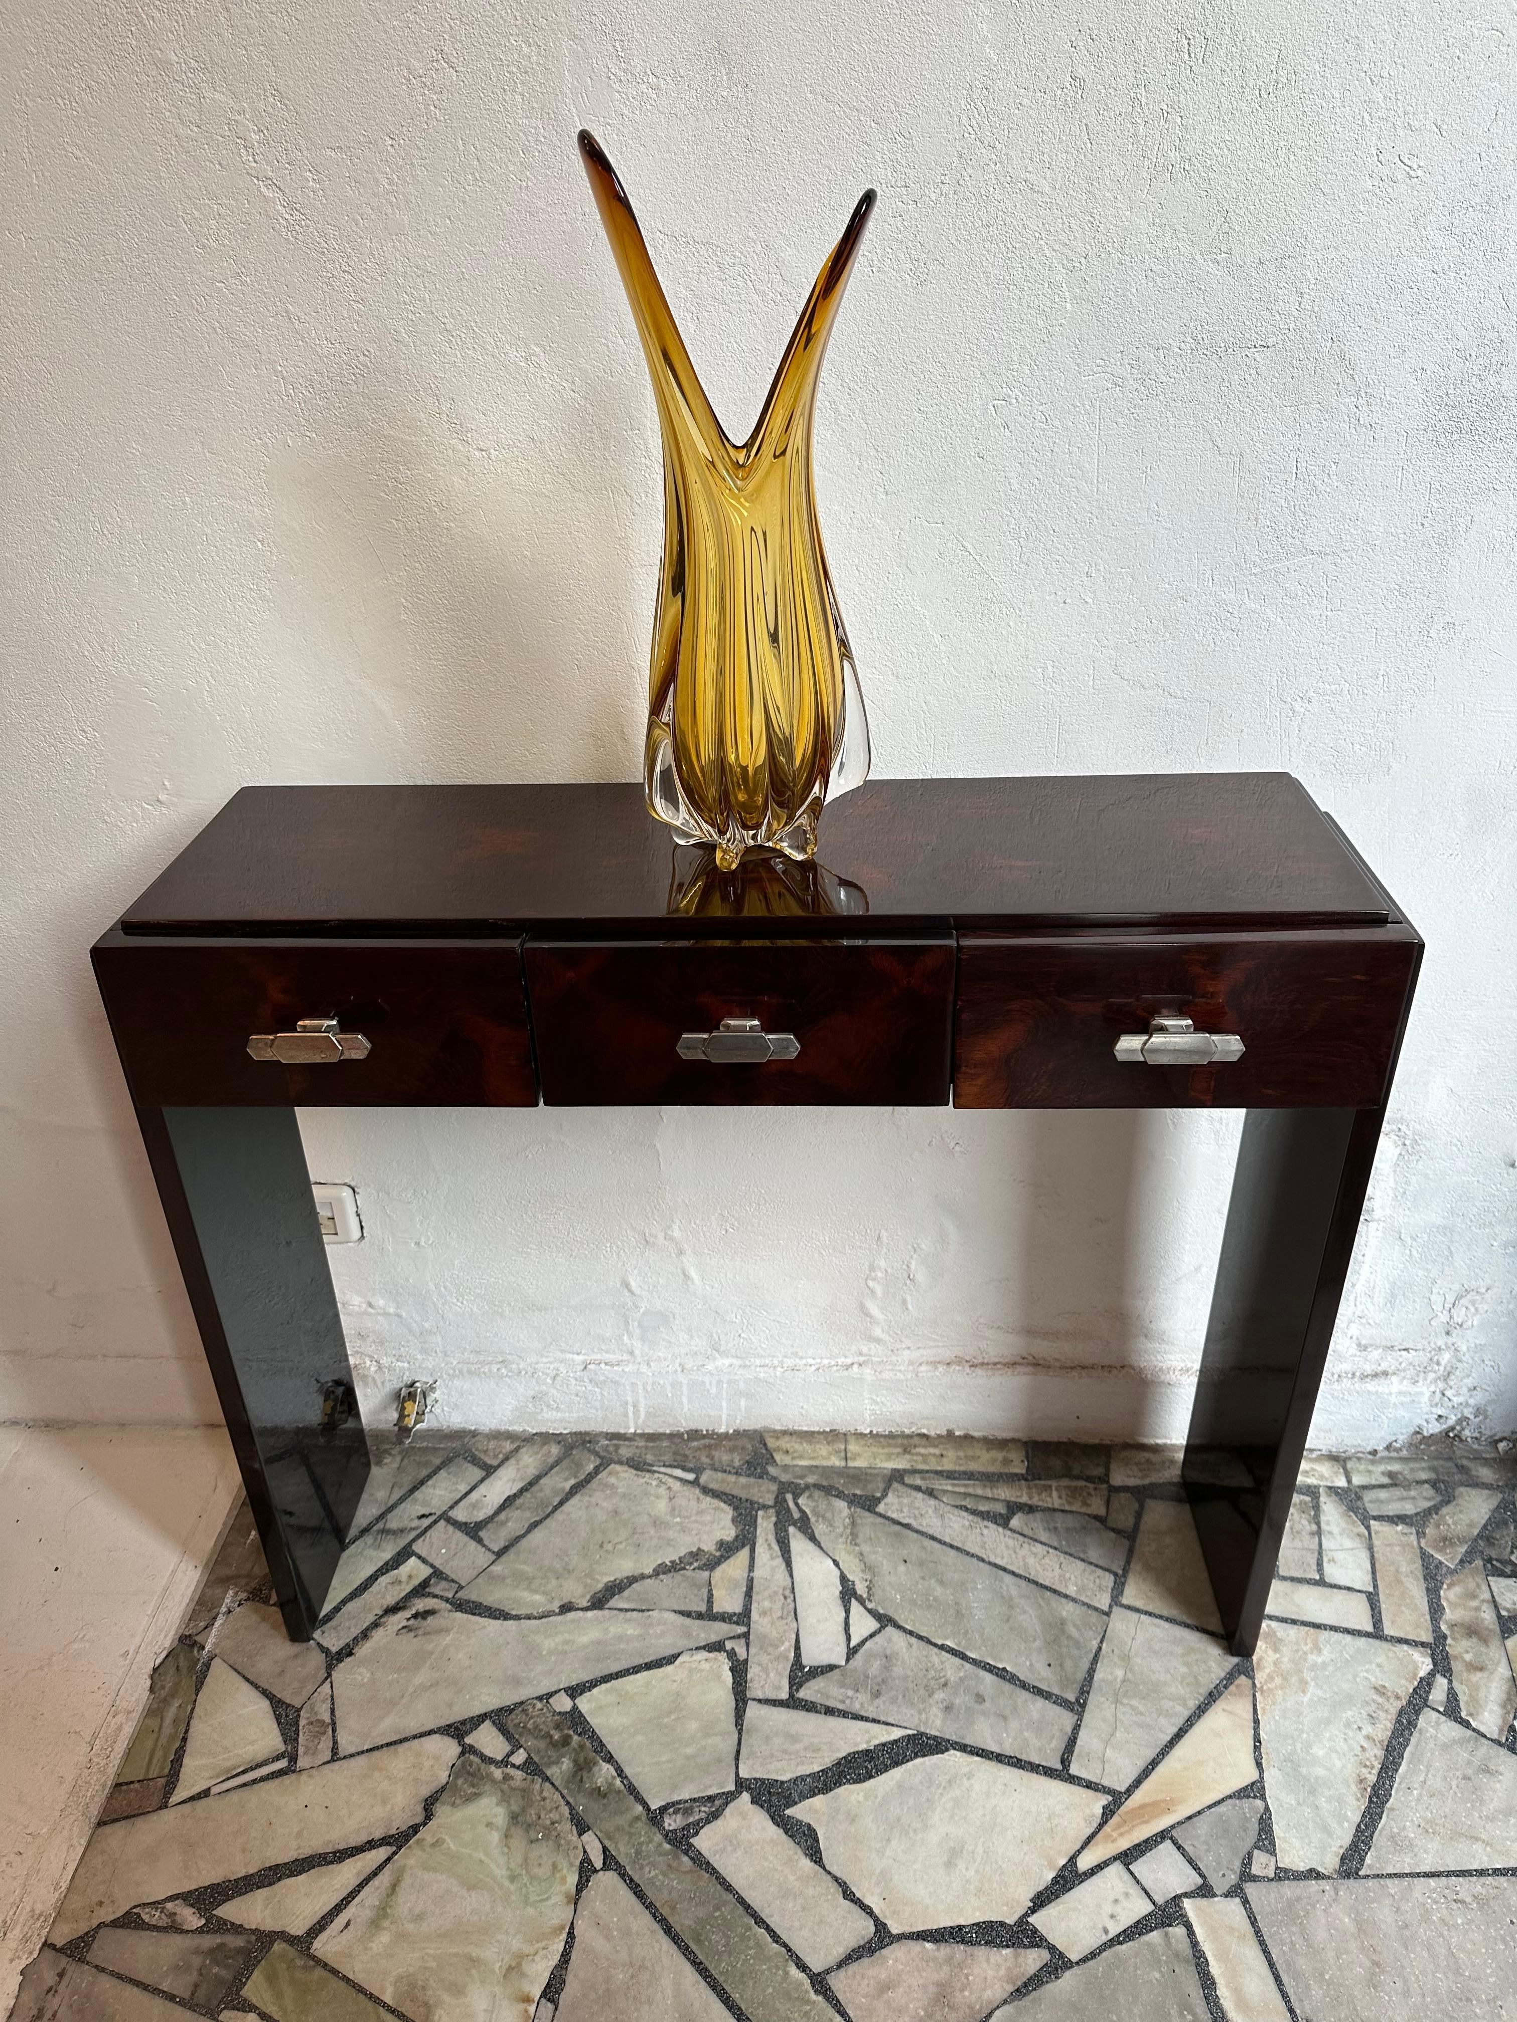
[[[866,190],[801,309],[746,443],[690,364],[615,168],[578,137],[643,340],[663,435],[663,562],[643,785],[720,869],[809,857],[827,795],[870,770],[870,726],[817,526],[811,419],[827,336],[874,210]]]

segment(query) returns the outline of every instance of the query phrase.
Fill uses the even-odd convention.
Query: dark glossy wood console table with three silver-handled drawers
[[[1280,772],[876,780],[734,874],[637,787],[249,787],[93,950],[291,1636],[368,1476],[295,1106],[955,1102],[1250,1112],[1185,1448],[1238,1652],[1420,954]]]

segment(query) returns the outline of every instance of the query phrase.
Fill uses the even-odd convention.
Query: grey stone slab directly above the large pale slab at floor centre
[[[801,1686],[801,1698],[1046,1769],[1058,1769],[1074,1727],[1064,1707],[894,1628],[874,1634],[841,1670]]]

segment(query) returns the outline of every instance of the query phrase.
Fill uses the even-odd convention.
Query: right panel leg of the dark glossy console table
[[[1264,1622],[1384,1116],[1244,1122],[1183,1466],[1238,1656]]]

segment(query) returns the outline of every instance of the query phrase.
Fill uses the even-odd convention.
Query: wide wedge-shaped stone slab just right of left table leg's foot
[[[386,1616],[332,1672],[338,1747],[354,1755],[400,1735],[473,1721],[536,1692],[607,1678],[730,1634],[726,1622],[659,1612],[607,1607],[498,1622],[419,1599]]]

